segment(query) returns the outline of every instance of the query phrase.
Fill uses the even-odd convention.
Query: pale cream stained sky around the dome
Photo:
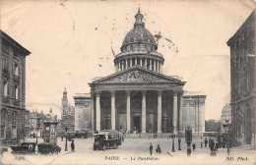
[[[88,93],[95,77],[113,74],[114,55],[138,7],[145,27],[160,33],[163,74],[182,77],[184,90],[207,95],[205,119],[221,118],[230,101],[226,41],[255,9],[252,0],[3,0],[0,27],[32,52],[26,61],[26,108],[60,117],[64,87]],[[166,38],[166,39],[165,39]],[[169,42],[169,40],[172,42]]]

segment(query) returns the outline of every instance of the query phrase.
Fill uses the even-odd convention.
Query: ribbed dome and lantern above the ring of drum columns
[[[138,47],[145,51],[156,51],[158,46],[153,34],[145,27],[143,23],[143,15],[140,10],[135,16],[136,23],[134,27],[126,34],[121,46],[121,51],[134,51]]]

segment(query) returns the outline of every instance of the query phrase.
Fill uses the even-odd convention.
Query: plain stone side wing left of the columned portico
[[[93,131],[91,94],[76,94],[75,99],[75,131]]]

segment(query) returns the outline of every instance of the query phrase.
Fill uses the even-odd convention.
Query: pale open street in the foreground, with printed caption
[[[58,138],[62,148],[59,155],[13,155],[11,148],[3,154],[3,164],[252,164],[255,162],[255,150],[231,148],[229,157],[226,148],[220,148],[216,157],[210,156],[209,147],[200,148],[202,138],[195,138],[196,150],[187,157],[186,143],[181,139],[181,150],[178,150],[175,138],[175,152],[171,152],[171,138],[125,138],[117,149],[93,150],[94,138],[75,138],[75,152],[71,152],[68,141],[68,151],[65,150],[65,138]],[[153,144],[153,155],[150,156],[149,146]],[[160,144],[161,154],[156,153]],[[169,153],[170,154],[169,154]],[[65,155],[65,156],[64,156]],[[200,158],[200,159],[199,159]]]

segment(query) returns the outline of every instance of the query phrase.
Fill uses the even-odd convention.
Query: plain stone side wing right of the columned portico
[[[182,130],[192,128],[195,136],[200,136],[205,132],[205,100],[206,95],[197,92],[184,93],[182,97]]]

